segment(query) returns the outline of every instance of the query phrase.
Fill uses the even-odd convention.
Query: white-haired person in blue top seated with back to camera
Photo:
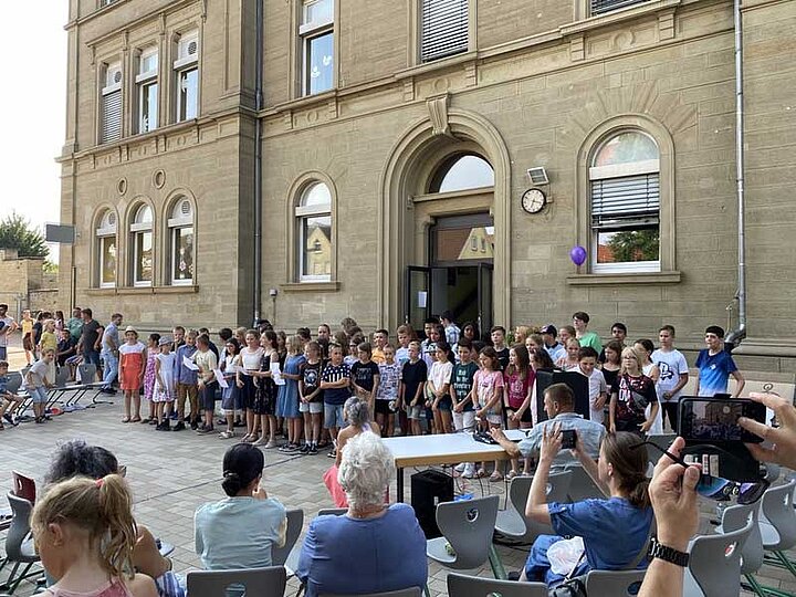
[[[307,597],[426,585],[426,536],[415,511],[384,503],[394,474],[392,454],[378,436],[359,433],[348,440],[337,473],[348,512],[316,517],[298,558],[296,576]]]

